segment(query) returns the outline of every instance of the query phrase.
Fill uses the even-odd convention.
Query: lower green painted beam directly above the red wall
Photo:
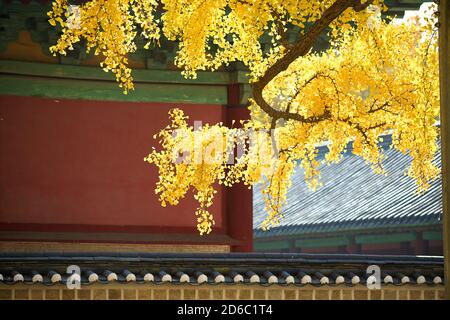
[[[111,100],[226,105],[227,87],[211,85],[136,83],[135,90],[123,94],[112,81],[74,80],[0,74],[0,94]]]

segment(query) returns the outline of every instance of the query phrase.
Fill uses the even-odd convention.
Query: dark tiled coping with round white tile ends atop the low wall
[[[308,254],[0,254],[0,283],[66,283],[69,265],[81,284],[172,283],[259,285],[365,284],[378,265],[384,285],[443,282],[442,257]],[[72,278],[73,279],[73,278]],[[369,280],[370,281],[370,280]]]

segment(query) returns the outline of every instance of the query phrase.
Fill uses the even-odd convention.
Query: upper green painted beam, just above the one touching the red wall
[[[74,66],[14,60],[0,60],[0,73],[28,75],[52,78],[69,78],[83,80],[115,81],[111,72],[103,71],[100,66]],[[132,76],[135,83],[174,83],[191,85],[226,85],[248,83],[245,71],[234,72],[199,72],[197,79],[186,79],[180,71],[134,69]]]

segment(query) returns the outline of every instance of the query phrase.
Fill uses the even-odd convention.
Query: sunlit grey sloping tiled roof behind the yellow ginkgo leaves
[[[389,148],[391,137],[384,136],[381,147],[386,159],[387,176],[375,174],[370,165],[351,153],[351,147],[338,164],[322,164],[322,186],[307,188],[300,166],[292,177],[288,203],[282,209],[281,224],[268,231],[260,229],[266,217],[259,192],[253,193],[253,228],[255,237],[289,234],[330,233],[361,229],[398,228],[440,224],[442,190],[440,177],[426,193],[415,193],[415,181],[405,175],[411,158]],[[328,151],[319,148],[319,159]],[[441,167],[440,150],[435,163]]]

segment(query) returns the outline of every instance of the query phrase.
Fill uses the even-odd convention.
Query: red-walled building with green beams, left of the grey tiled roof
[[[162,41],[130,56],[136,88],[124,95],[82,44],[49,53],[50,1],[0,3],[2,250],[252,250],[250,190],[219,188],[215,232],[199,237],[196,201],[161,207],[157,170],[143,161],[173,107],[203,123],[247,117],[242,71],[186,80]]]

